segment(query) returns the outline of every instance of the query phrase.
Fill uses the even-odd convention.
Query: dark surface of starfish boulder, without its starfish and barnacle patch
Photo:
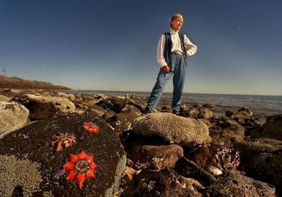
[[[90,133],[83,129],[83,123],[89,121],[97,124],[100,132]],[[70,147],[56,151],[51,147],[52,138],[64,132],[72,134],[75,142]],[[98,165],[95,169],[95,177],[85,179],[81,189],[75,181],[67,181],[66,175],[58,174],[63,165],[70,161],[69,154],[76,155],[80,151],[93,155],[93,161]],[[36,171],[40,173],[42,181],[38,188],[33,188],[33,191],[36,190],[33,196],[44,196],[47,193],[49,196],[113,196],[126,163],[125,151],[120,139],[103,119],[90,111],[83,115],[72,114],[40,120],[7,134],[0,139],[0,155],[15,156],[18,160],[28,160],[38,166]],[[9,171],[10,169],[5,169],[8,167],[1,166],[1,171]],[[0,180],[14,180],[13,177],[7,179],[1,175],[3,174],[0,173]],[[19,175],[15,174],[15,176]],[[28,181],[28,177],[21,177],[22,182]],[[12,185],[8,182],[5,186]],[[23,190],[25,189],[23,187]]]

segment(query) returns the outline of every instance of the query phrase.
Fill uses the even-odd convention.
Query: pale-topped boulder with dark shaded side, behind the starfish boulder
[[[46,119],[53,115],[68,115],[75,110],[73,102],[63,97],[26,94],[14,97],[13,100],[28,108],[31,119]]]

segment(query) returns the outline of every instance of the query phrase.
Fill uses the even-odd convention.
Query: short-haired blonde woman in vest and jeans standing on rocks
[[[179,32],[180,28],[182,28],[182,23],[183,16],[178,13],[174,14],[170,19],[170,32],[160,36],[157,45],[157,63],[160,65],[160,72],[147,101],[145,113],[155,110],[165,85],[172,78],[172,113],[179,114],[187,69],[187,57],[197,52],[197,46],[186,35]]]

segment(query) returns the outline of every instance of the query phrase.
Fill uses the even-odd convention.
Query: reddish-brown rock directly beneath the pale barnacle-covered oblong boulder
[[[167,146],[140,145],[133,147],[128,158],[135,163],[135,168],[148,167],[149,169],[162,169],[172,166],[183,156],[182,147],[172,144]]]

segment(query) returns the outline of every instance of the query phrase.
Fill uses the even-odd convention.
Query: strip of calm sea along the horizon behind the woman
[[[150,92],[118,92],[118,91],[93,91],[93,90],[78,90],[70,93],[87,93],[91,95],[132,95],[136,94],[140,97],[148,97]],[[172,93],[164,92],[162,97],[170,102]],[[222,115],[226,110],[239,110],[241,107],[248,107],[256,115],[270,116],[282,114],[282,96],[268,95],[221,95],[221,94],[194,94],[183,93],[182,104],[192,103],[211,103],[216,105],[212,109],[218,115]]]

